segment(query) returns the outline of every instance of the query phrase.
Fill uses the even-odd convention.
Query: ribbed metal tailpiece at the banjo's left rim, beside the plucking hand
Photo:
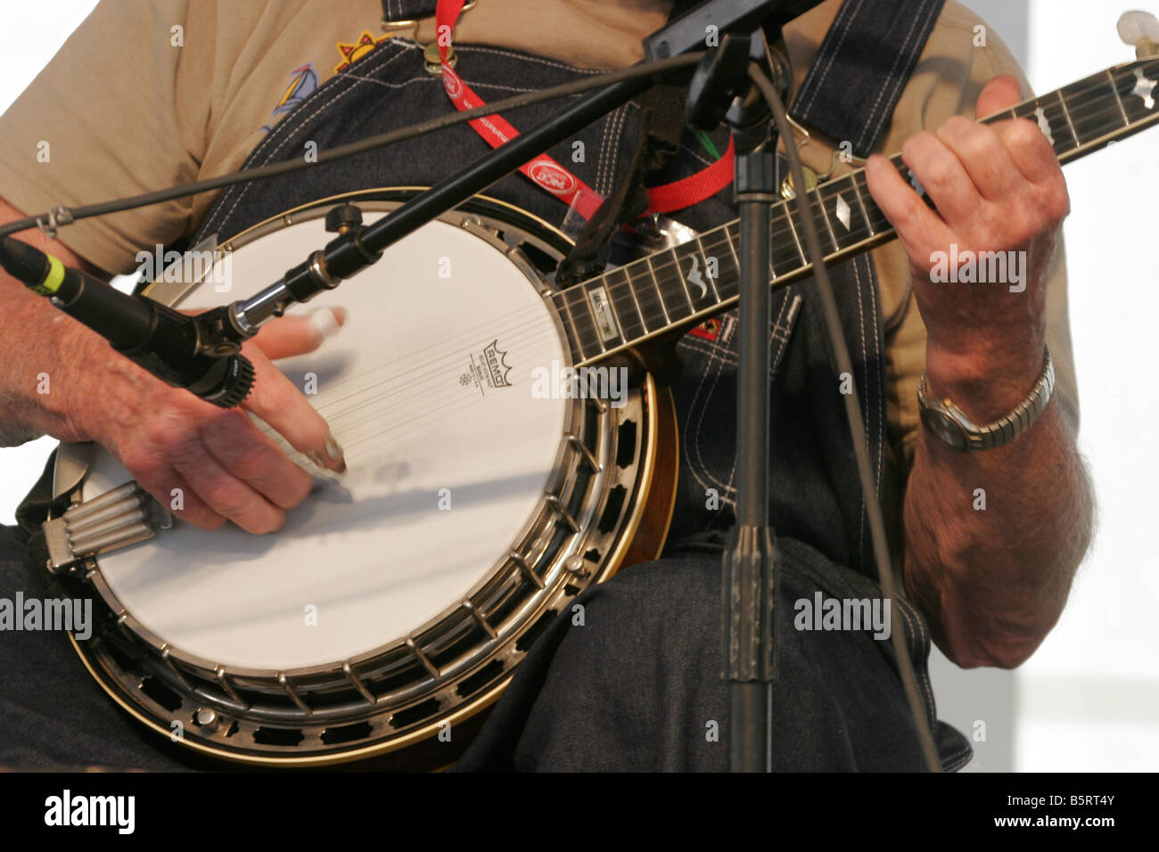
[[[145,541],[158,529],[173,525],[173,516],[136,481],[99,497],[73,503],[59,518],[43,524],[49,570],[79,573],[86,556]]]

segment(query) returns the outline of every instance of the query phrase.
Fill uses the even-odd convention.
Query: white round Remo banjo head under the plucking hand
[[[180,307],[250,296],[330,239],[321,219],[263,236],[233,254],[228,292],[203,284]],[[299,388],[316,374],[309,399],[348,473],[316,478],[271,536],[178,522],[99,560],[124,609],[182,655],[285,671],[387,645],[458,604],[542,497],[569,401],[533,396],[532,370],[568,356],[497,248],[433,223],[294,312],[331,305],[347,326],[278,365]],[[102,453],[83,496],[129,479]]]

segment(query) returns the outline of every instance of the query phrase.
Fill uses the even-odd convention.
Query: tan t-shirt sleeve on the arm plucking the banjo
[[[35,214],[196,180],[217,0],[102,0],[0,116],[0,197]],[[59,239],[109,272],[190,228],[192,199],[83,219]]]

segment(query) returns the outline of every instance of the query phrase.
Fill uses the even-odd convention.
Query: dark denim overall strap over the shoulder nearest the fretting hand
[[[945,0],[845,0],[790,110],[853,153],[873,152]]]

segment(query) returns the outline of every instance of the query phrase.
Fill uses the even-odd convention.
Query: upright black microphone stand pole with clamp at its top
[[[777,126],[748,67],[761,65],[782,92],[788,89],[792,73],[779,36],[788,20],[766,19],[764,30],[751,37],[729,36],[702,60],[688,90],[690,124],[707,130],[723,119],[732,132],[741,214],[737,509],[722,566],[722,676],[729,684],[734,772],[772,771],[778,558],[768,523],[768,281],[772,205],[780,198]],[[765,30],[778,34],[777,52],[767,50]]]

